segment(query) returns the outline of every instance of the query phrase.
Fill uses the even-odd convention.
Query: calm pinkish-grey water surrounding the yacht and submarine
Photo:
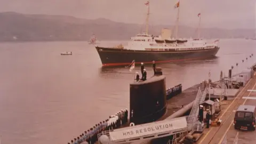
[[[101,44],[118,44],[101,42]],[[168,87],[186,89],[226,71],[255,53],[256,41],[223,39],[217,59],[168,63],[163,68]],[[60,55],[72,51],[73,55]],[[249,63],[254,58],[249,58]],[[256,60],[256,59],[254,59]],[[128,68],[101,68],[93,45],[86,42],[0,43],[0,135],[2,143],[67,143],[115,114],[129,108]],[[135,70],[139,71],[137,66]],[[148,67],[148,75],[153,74]]]

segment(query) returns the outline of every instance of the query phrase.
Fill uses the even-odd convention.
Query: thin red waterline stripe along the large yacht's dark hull
[[[180,60],[163,60],[163,61],[155,61],[155,63],[164,63],[164,62],[178,62],[178,61],[189,61],[189,60],[198,60],[198,59],[206,59],[209,57],[199,57],[199,58],[191,58],[191,59],[180,59]],[[106,63],[102,64],[102,66],[123,66],[123,65],[130,65],[132,62],[125,62],[125,63]],[[141,62],[136,62],[135,64],[140,64]],[[152,61],[149,62],[143,62],[143,63],[152,63]]]

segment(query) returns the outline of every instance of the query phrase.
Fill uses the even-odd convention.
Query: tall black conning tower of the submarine
[[[135,125],[154,122],[167,108],[165,76],[161,68],[155,75],[130,84],[130,123]]]

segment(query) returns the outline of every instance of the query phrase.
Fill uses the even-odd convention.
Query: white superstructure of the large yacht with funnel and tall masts
[[[153,36],[148,34],[148,19],[149,19],[149,1],[145,3],[148,6],[147,13],[147,25],[146,25],[146,33],[138,34],[134,37],[131,37],[130,42],[127,47],[124,49],[129,50],[157,50],[157,51],[168,51],[169,49],[175,50],[199,50],[199,49],[214,49],[218,47],[219,39],[215,41],[206,41],[204,39],[180,39],[180,38],[171,38],[171,31],[169,29],[162,29],[162,33],[160,36]],[[176,4],[179,9],[180,2]],[[179,17],[179,11],[178,11]],[[178,21],[179,19],[177,19]],[[200,16],[201,20],[201,16]],[[178,22],[177,22],[178,25]],[[178,26],[176,26],[176,36],[178,31]],[[199,30],[198,30],[199,33]],[[198,34],[199,37],[199,34]]]

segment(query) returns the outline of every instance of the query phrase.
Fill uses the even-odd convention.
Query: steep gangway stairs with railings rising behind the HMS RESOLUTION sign
[[[206,97],[206,90],[205,89],[201,89],[201,87],[199,87],[197,95],[196,95],[196,99],[194,101],[194,105],[190,111],[190,114],[188,116],[188,123],[192,124],[192,123],[196,123],[198,122],[198,113],[199,113],[199,105],[200,103],[202,103],[205,100]]]

